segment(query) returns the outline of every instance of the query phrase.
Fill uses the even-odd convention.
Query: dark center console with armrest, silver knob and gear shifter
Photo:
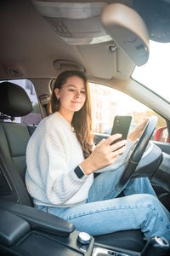
[[[161,237],[152,238],[141,253],[106,246],[62,218],[0,200],[0,255],[160,256],[170,252]]]

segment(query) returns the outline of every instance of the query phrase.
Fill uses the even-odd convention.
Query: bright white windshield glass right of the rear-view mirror
[[[132,78],[170,102],[170,44],[150,41],[149,61],[135,67]]]

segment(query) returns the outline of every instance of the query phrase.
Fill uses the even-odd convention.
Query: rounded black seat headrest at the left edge
[[[0,112],[19,117],[31,111],[31,101],[22,87],[10,82],[0,84]]]

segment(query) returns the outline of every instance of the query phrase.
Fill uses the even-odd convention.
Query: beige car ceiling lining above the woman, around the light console
[[[86,3],[76,0],[50,2]],[[88,3],[94,2],[99,1],[88,0]],[[118,2],[133,7],[133,1],[102,2]],[[0,27],[0,79],[55,78],[60,70],[54,68],[54,61],[64,60],[75,61],[84,67],[91,81],[123,86],[129,81],[129,75],[135,67],[121,47],[111,52],[110,46],[114,45],[112,41],[87,45],[66,44],[29,0],[2,0]]]

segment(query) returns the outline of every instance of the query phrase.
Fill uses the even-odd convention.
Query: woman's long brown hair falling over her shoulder
[[[52,94],[48,102],[48,112],[54,113],[56,111],[59,111],[60,101],[57,100],[54,94],[54,90],[56,88],[60,89],[62,85],[66,83],[67,79],[73,76],[77,76],[83,80],[86,90],[86,101],[84,102],[83,107],[79,111],[74,113],[71,125],[74,126],[77,139],[82,145],[84,157],[88,158],[88,156],[92,153],[94,137],[92,135],[92,114],[89,84],[88,79],[84,73],[77,70],[67,70],[59,74],[58,78],[55,80]]]

